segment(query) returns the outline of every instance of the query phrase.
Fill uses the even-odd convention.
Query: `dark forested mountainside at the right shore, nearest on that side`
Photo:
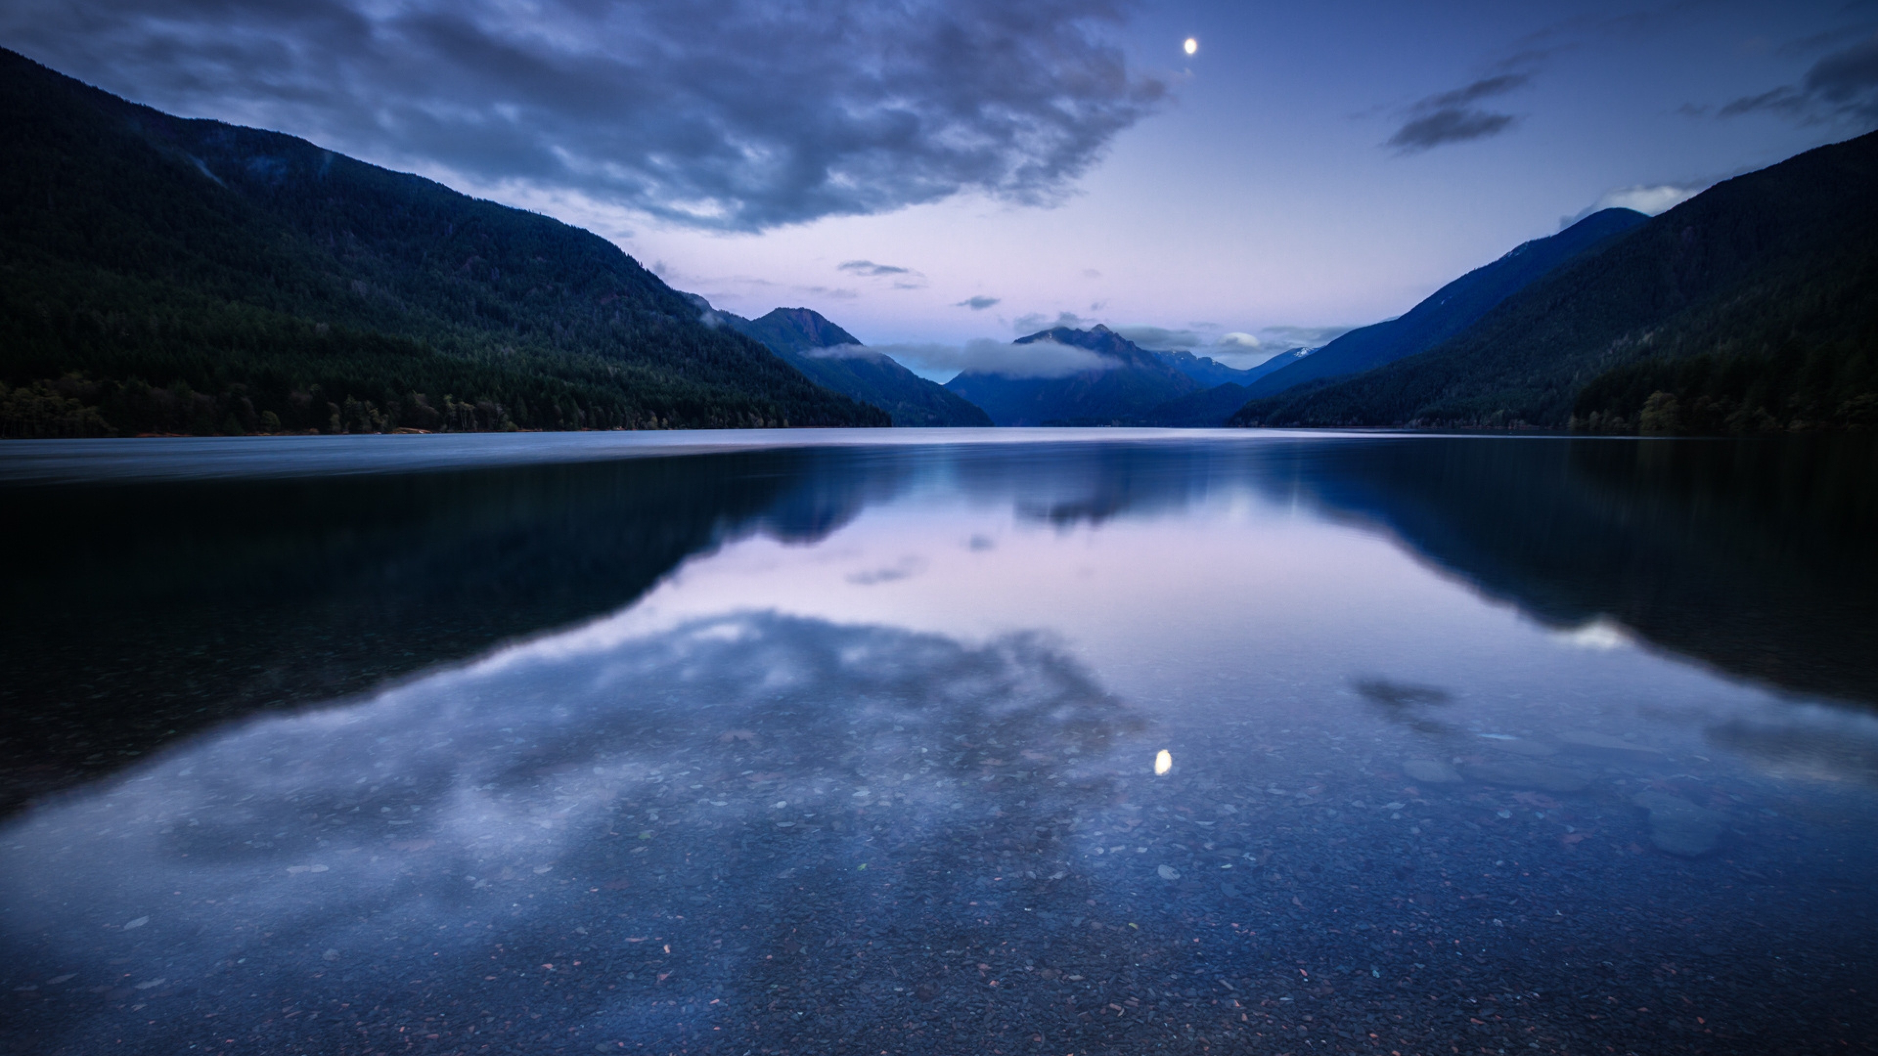
[[[1767,432],[1878,425],[1878,133],[1720,182],[1414,359],[1236,425]]]

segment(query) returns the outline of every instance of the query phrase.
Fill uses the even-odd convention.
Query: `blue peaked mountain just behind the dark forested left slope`
[[[699,299],[702,304],[702,299]],[[708,310],[710,304],[704,304]],[[992,419],[969,400],[945,391],[896,363],[862,348],[854,334],[808,308],[776,308],[761,319],[731,312],[717,316],[736,333],[755,338],[824,389],[881,408],[898,427],[990,427]],[[836,349],[834,355],[809,355]]]

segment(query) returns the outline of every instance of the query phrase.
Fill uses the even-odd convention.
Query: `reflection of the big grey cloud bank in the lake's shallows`
[[[593,641],[254,722],[21,819],[8,975],[103,1002],[160,979],[135,1000],[250,1018],[259,992],[394,1003],[376,990],[423,979],[518,1018],[580,962],[618,990],[563,1028],[644,1037],[661,971],[742,1011],[856,917],[945,932],[1061,881],[1144,725],[1037,637],[757,613]],[[913,868],[933,846],[943,876]],[[674,934],[693,945],[639,941]],[[79,1009],[36,1026],[116,1030]],[[171,1022],[152,1039],[214,1032]]]

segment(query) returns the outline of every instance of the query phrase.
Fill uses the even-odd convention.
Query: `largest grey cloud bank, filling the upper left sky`
[[[1050,205],[1166,85],[1127,0],[17,0],[0,39],[169,111],[520,195],[761,231]]]

